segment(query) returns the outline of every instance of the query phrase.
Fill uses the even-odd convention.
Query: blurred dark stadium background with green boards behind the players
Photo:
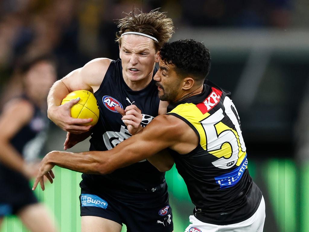
[[[210,49],[208,78],[232,92],[247,147],[248,169],[264,194],[264,231],[307,232],[306,0],[0,0],[0,105],[20,91],[14,69],[29,54],[52,53],[57,58],[58,78],[93,58],[117,59],[113,19],[122,18],[122,12],[133,7],[144,12],[161,7],[175,23],[172,41],[193,38]],[[46,152],[62,149],[64,140],[65,132],[52,125]],[[72,150],[87,149],[86,141]],[[55,183],[44,192],[37,189],[36,194],[49,207],[61,231],[80,231],[80,174],[56,168],[55,175]],[[174,231],[184,231],[193,205],[175,167],[166,179]],[[7,218],[0,230],[20,231],[27,230],[14,217]]]

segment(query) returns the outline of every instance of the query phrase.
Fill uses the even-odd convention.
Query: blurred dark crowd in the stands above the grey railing
[[[20,91],[22,60],[53,54],[60,78],[92,58],[117,59],[112,19],[134,7],[144,12],[161,7],[174,20],[177,32],[185,26],[289,28],[295,5],[292,0],[0,0],[2,100]]]

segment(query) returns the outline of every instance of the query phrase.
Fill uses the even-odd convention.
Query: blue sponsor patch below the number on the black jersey
[[[225,173],[221,176],[217,176],[214,179],[216,180],[216,183],[220,185],[220,189],[229,188],[237,184],[237,182],[241,179],[243,176],[243,172],[245,171],[248,164],[247,160],[247,154],[243,159],[243,162],[239,167],[235,168],[233,171],[229,173]]]

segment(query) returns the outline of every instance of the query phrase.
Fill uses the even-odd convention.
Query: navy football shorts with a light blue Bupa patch
[[[103,217],[127,226],[127,232],[171,232],[172,211],[168,201],[167,185],[151,190],[121,191],[104,189],[80,183],[81,216]]]

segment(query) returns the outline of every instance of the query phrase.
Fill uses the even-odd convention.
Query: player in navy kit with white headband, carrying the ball
[[[157,9],[150,13],[136,12],[137,9],[118,21],[120,30],[116,41],[120,59],[94,59],[53,84],[48,96],[48,115],[57,126],[72,133],[67,135],[65,149],[91,134],[91,151],[110,150],[158,114],[166,113],[167,103],[159,100],[152,78],[159,49],[174,32],[173,22]],[[69,92],[79,89],[93,92],[99,105],[99,122],[92,129],[80,125],[91,119],[70,115],[71,106],[78,100],[60,105]],[[127,115],[118,114],[116,105],[125,109]],[[162,171],[174,163],[171,157],[165,157],[167,167],[158,167]],[[149,161],[155,160],[156,157]],[[173,230],[165,173],[149,161],[143,160],[108,175],[82,175],[82,231],[101,228],[105,232],[120,232],[122,223],[128,231]],[[104,206],[92,203],[97,200],[104,202]],[[157,221],[166,222],[162,226]]]

